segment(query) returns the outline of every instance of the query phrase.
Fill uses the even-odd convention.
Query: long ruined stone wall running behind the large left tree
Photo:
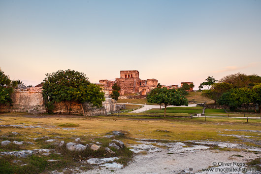
[[[33,114],[45,113],[46,108],[42,96],[41,87],[17,88],[12,96],[12,106],[0,104],[0,112],[28,112]],[[116,110],[116,102],[113,99],[105,99],[102,108],[92,107],[88,103],[70,105],[71,114],[83,114],[85,116],[106,115],[107,112]],[[66,113],[67,109],[63,102],[55,103],[54,113]]]

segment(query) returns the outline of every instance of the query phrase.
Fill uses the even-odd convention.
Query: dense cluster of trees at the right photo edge
[[[202,91],[202,96],[214,100],[217,104],[227,105],[234,111],[242,106],[248,110],[249,106],[252,106],[257,112],[258,106],[261,113],[260,76],[236,73],[223,77],[218,83],[215,83],[216,80],[212,81],[214,83],[209,90]]]

